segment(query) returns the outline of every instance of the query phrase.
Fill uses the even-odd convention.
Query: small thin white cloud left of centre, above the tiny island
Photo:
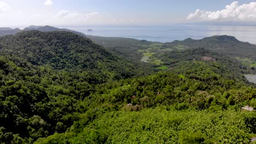
[[[69,18],[74,18],[74,17],[80,17],[80,18],[86,18],[89,19],[91,16],[97,15],[98,12],[94,13],[89,13],[89,14],[79,14],[79,13],[71,13],[69,10],[61,10],[57,16],[59,17],[69,17]]]

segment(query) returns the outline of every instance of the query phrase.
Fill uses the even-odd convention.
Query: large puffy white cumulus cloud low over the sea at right
[[[189,14],[187,20],[192,21],[256,21],[256,2],[239,5],[232,2],[223,10],[205,11],[197,9]]]

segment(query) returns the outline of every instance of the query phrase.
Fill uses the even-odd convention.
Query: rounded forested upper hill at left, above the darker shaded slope
[[[9,59],[22,58],[33,65],[51,69],[88,71],[92,75],[101,75],[98,77],[102,79],[135,76],[138,75],[135,69],[142,67],[139,63],[128,63],[90,39],[71,32],[20,32],[1,37],[0,46],[0,54]]]

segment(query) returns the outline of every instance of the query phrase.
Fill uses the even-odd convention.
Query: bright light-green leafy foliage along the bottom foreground
[[[256,117],[253,112],[167,111],[165,107],[140,112],[112,111],[86,124],[77,135],[71,130],[55,134],[54,139],[69,143],[248,143],[248,116]],[[50,140],[53,136],[37,142],[53,143]]]

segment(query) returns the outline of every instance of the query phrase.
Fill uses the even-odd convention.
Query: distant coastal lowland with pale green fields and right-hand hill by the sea
[[[194,40],[191,38],[171,43],[156,43],[146,40],[135,40],[127,38],[105,38],[88,35],[95,43],[106,47],[117,55],[124,56],[134,61],[144,61],[162,66],[161,53],[170,51],[181,51],[202,47],[213,52],[223,53],[234,57],[242,62],[244,66],[255,67],[256,46],[237,40],[228,35],[216,35],[213,37]]]

